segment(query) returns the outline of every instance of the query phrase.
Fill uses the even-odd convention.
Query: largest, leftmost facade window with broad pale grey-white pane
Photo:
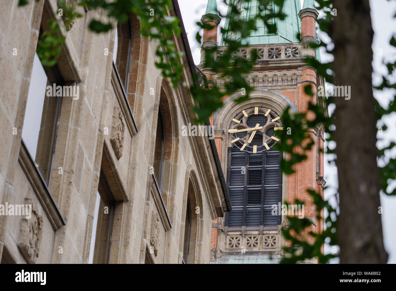
[[[56,94],[56,87],[63,86],[63,84],[57,67],[43,67],[36,53],[23,121],[22,139],[47,185],[51,177],[51,164],[61,106],[61,96],[59,95],[62,94]]]

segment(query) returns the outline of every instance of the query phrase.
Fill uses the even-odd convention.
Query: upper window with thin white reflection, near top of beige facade
[[[128,93],[129,63],[131,61],[132,48],[132,22],[118,23],[116,38],[114,40],[113,62],[116,67],[124,92]]]

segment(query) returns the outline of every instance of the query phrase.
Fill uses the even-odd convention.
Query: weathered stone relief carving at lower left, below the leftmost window
[[[29,219],[21,220],[17,245],[26,262],[34,264],[40,251],[43,218],[38,214],[31,198],[25,198],[25,205],[32,205],[32,213]]]

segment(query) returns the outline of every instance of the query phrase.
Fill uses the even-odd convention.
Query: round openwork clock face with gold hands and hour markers
[[[230,124],[232,146],[253,154],[269,150],[276,142],[276,130],[283,130],[280,117],[270,108],[251,107],[239,112]]]

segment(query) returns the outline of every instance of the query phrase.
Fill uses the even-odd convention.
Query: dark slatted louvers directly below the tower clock
[[[272,215],[272,205],[278,205],[282,197],[279,164],[279,151],[252,154],[228,148],[227,187],[232,211],[227,213],[225,226],[271,228],[280,224],[281,215]]]

